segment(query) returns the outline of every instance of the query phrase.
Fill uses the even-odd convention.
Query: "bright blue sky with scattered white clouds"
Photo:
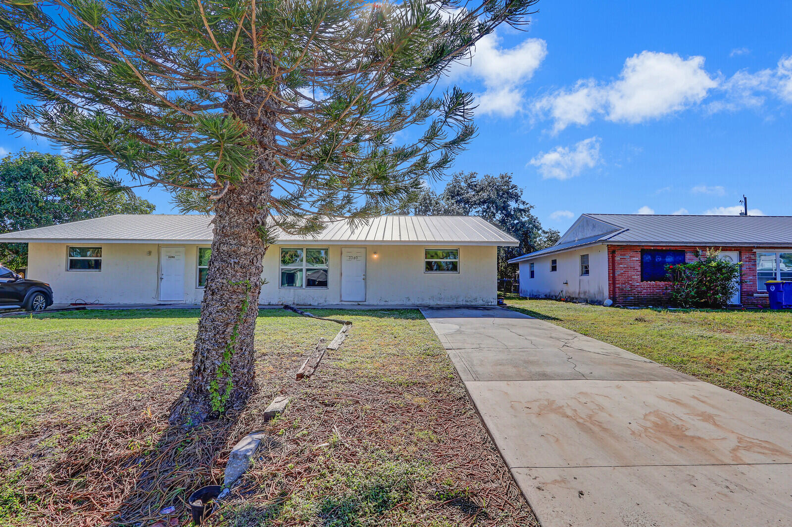
[[[454,170],[513,173],[562,230],[584,212],[736,214],[743,193],[754,214],[792,214],[792,2],[537,7],[451,71],[479,104]],[[0,139],[21,147],[50,150]],[[140,194],[173,211],[166,191]]]

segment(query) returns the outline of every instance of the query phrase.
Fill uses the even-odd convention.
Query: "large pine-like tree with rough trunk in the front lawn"
[[[31,103],[0,122],[215,214],[172,423],[252,392],[262,260],[279,229],[361,222],[443,173],[474,137],[472,97],[432,86],[535,2],[4,0],[0,69]],[[415,139],[394,141],[405,129]]]

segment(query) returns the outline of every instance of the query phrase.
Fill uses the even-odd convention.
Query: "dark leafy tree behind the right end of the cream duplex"
[[[479,177],[474,172],[458,172],[440,194],[423,188],[407,211],[432,216],[481,216],[516,237],[519,247],[498,248],[498,275],[503,277],[508,273],[508,260],[558,242],[558,230],[543,229],[539,218],[531,213],[533,208],[512,181],[512,174]]]

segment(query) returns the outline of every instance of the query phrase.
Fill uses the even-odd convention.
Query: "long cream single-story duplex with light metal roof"
[[[198,304],[211,216],[116,214],[0,234],[26,242],[27,276],[55,304]],[[264,258],[261,305],[496,305],[497,247],[515,238],[473,216],[332,222],[317,237],[280,233]]]

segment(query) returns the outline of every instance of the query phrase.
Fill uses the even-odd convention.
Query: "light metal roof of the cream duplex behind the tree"
[[[116,214],[0,234],[0,242],[209,244],[213,218],[203,214]],[[478,216],[379,216],[354,229],[346,221],[330,222],[316,237],[279,233],[281,245],[298,241],[333,245],[520,245],[514,237]]]

